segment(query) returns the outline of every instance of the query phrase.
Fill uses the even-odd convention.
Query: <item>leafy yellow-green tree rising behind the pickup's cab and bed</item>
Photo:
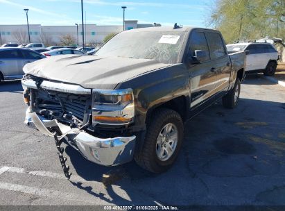
[[[209,12],[208,26],[223,33],[226,42],[284,36],[282,0],[216,0]]]

